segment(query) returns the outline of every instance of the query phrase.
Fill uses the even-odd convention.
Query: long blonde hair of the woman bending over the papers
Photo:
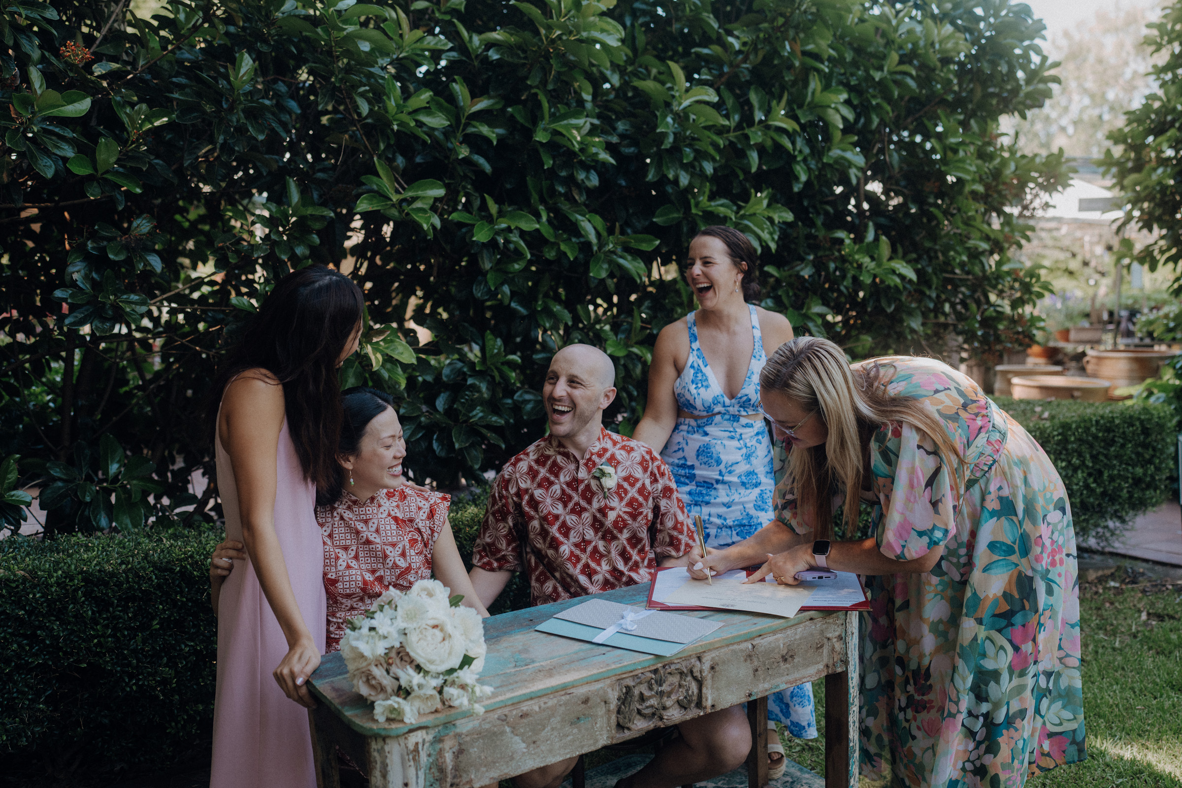
[[[842,349],[827,339],[797,337],[772,353],[759,377],[761,391],[775,391],[806,411],[817,411],[829,428],[824,444],[788,451],[797,510],[803,517],[812,515],[818,539],[831,536],[834,482],[845,486],[846,533],[857,530],[870,437],[890,422],[910,424],[930,437],[953,474],[955,502],[963,493],[965,463],[943,422],[922,399],[886,393],[879,384],[881,375],[882,364],[877,362],[868,369],[850,369]]]

